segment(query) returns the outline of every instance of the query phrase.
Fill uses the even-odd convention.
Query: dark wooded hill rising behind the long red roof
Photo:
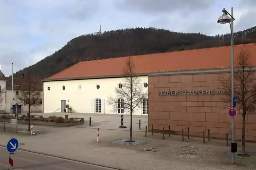
[[[234,44],[256,43],[255,30],[256,26],[234,33]],[[227,46],[231,44],[230,36],[178,33],[152,27],[86,34],[70,40],[36,64],[19,70],[14,77],[20,77],[30,69],[38,78],[47,78],[80,61]]]

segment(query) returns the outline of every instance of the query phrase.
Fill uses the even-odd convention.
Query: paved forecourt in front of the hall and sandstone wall
[[[8,125],[7,125],[8,128]],[[18,125],[18,129],[27,125]],[[190,137],[182,142],[182,136],[145,132],[133,132],[134,139],[147,140],[144,143],[129,146],[111,142],[129,137],[129,131],[100,129],[97,143],[97,129],[78,127],[51,127],[35,125],[41,129],[38,135],[27,133],[3,132],[0,126],[0,144],[6,145],[11,137],[18,139],[20,149],[56,155],[75,159],[91,164],[103,165],[123,170],[255,170],[253,159],[236,159],[236,165],[231,166],[228,157],[222,156],[230,151],[224,140],[210,139],[203,144],[202,138]],[[191,144],[198,148],[197,152],[188,154],[181,146]],[[246,150],[256,152],[255,143],[246,143]],[[144,151],[143,148],[156,148],[157,152]],[[240,142],[239,148],[241,149]]]

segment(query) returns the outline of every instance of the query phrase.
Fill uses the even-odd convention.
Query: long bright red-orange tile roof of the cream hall
[[[247,47],[250,50],[252,63],[256,65],[256,43],[235,45],[235,61],[236,55],[242,47]],[[132,58],[136,67],[135,71],[144,73],[144,75],[159,71],[230,66],[231,46],[132,56]],[[125,62],[126,57],[79,62],[43,81],[120,75]]]

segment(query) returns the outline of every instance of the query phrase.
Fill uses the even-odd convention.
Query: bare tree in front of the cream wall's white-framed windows
[[[108,97],[108,105],[112,105],[112,111],[127,111],[131,116],[130,142],[132,142],[132,121],[133,113],[141,107],[143,99],[147,99],[148,92],[143,90],[143,85],[134,71],[135,65],[131,57],[127,57],[126,64],[123,68],[123,82],[115,87],[115,97]]]

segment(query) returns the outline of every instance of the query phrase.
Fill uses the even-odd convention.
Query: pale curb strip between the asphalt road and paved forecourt
[[[7,147],[6,145],[1,145],[1,144],[0,144],[0,146],[1,147]],[[73,159],[73,158],[67,158],[67,157],[64,157],[64,156],[56,156],[56,155],[48,154],[48,153],[44,153],[44,152],[37,152],[37,151],[23,149],[23,148],[17,148],[17,150],[31,152],[31,153],[37,153],[37,154],[46,155],[46,156],[52,156],[52,157],[61,158],[61,159],[68,160],[68,161],[75,161],[75,162],[85,163],[85,164],[88,164],[88,165],[95,165],[95,166],[104,167],[104,168],[122,170],[122,169],[118,169],[118,168],[115,168],[115,167],[110,167],[110,166],[105,166],[105,165],[100,165],[100,164],[93,164],[93,163],[89,163],[89,162],[86,162],[86,161],[80,161],[80,160],[76,160],[76,159]]]

